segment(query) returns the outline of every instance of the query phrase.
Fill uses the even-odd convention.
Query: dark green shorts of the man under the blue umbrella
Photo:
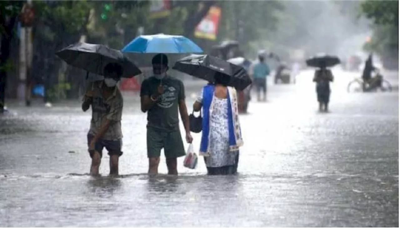
[[[186,155],[183,147],[180,131],[155,131],[147,128],[147,157],[160,157],[161,149],[164,148],[166,159],[177,158]]]

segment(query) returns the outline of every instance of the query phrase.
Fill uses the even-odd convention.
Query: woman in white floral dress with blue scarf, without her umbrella
[[[208,175],[236,174],[242,145],[236,90],[228,87],[229,77],[216,74],[214,84],[204,86],[193,104],[203,109],[202,144]],[[235,130],[236,128],[236,130]]]

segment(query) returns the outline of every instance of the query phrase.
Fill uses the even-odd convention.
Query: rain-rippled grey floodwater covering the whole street
[[[178,177],[149,179],[146,114],[132,94],[116,178],[106,154],[102,177],[87,175],[90,112],[80,102],[10,104],[0,117],[0,226],[398,227],[398,73],[390,93],[348,94],[356,76],[334,76],[330,113],[317,112],[312,71],[270,84],[266,103],[253,94],[237,176],[207,176],[202,159],[191,170],[180,158]],[[200,86],[187,89],[189,112]]]

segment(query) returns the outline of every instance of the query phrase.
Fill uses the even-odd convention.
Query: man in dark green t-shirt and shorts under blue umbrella
[[[147,157],[149,174],[158,173],[160,151],[164,148],[168,174],[177,175],[177,158],[184,156],[179,129],[178,108],[186,131],[186,141],[192,143],[185,90],[181,80],[168,76],[168,58],[157,54],[152,59],[154,76],[140,87],[140,106],[147,112]]]

